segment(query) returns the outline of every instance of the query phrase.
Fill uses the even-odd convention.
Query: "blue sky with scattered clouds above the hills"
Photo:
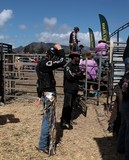
[[[13,48],[32,42],[69,45],[69,34],[78,26],[80,44],[89,46],[88,28],[96,43],[101,39],[99,14],[112,33],[129,22],[129,0],[0,0],[0,42]],[[129,27],[120,32],[121,41],[128,35]]]

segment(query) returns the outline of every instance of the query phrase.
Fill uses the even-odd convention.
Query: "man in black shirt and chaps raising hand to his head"
[[[35,105],[39,105],[41,100],[43,103],[41,134],[39,145],[36,148],[39,151],[45,152],[49,155],[54,153],[55,148],[51,146],[51,136],[56,133],[56,82],[53,75],[53,70],[63,67],[65,63],[64,50],[60,44],[55,44],[54,47],[47,50],[46,56],[43,57],[36,66],[38,77],[38,97],[35,99],[34,103]]]

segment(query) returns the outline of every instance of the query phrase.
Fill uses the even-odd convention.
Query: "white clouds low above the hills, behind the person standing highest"
[[[57,18],[44,18],[45,29],[43,32],[36,35],[37,41],[46,43],[60,43],[62,45],[69,46],[69,36],[71,33],[71,28],[67,24],[62,24],[59,26],[57,24]],[[100,40],[100,32],[95,32],[95,37]],[[78,33],[79,44],[84,46],[90,45],[89,33]]]

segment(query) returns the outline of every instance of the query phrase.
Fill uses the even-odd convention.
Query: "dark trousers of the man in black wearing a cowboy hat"
[[[77,93],[65,93],[64,94],[64,105],[62,110],[61,123],[70,124],[72,109],[76,106]]]

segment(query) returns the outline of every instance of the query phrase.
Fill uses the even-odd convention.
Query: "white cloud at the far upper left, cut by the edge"
[[[12,15],[13,15],[13,11],[10,9],[7,9],[7,10],[4,9],[0,13],[0,28],[2,28],[5,25],[5,23],[12,18]]]

